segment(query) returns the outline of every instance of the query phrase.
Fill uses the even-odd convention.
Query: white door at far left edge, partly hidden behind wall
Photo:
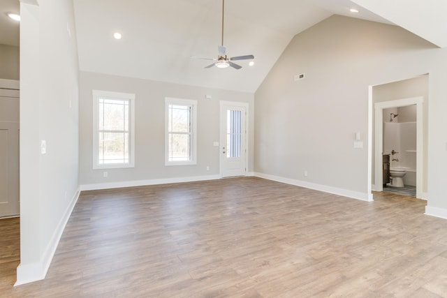
[[[0,93],[0,217],[20,213],[18,101]]]

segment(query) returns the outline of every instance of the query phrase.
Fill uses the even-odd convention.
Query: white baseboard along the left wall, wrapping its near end
[[[43,258],[39,262],[34,262],[31,264],[22,264],[17,267],[17,281],[16,285],[23,285],[25,283],[32,283],[34,281],[40,281],[47,275],[48,268],[50,267],[51,260],[56,252],[57,245],[61,239],[62,233],[64,232],[65,226],[68,223],[68,219],[71,216],[71,212],[75,207],[76,202],[78,202],[78,198],[80,195],[80,189],[76,191],[75,195],[71,199],[71,202],[65,209],[64,216],[62,216],[59,221],[57,228],[54,230],[50,242],[45,248],[45,252],[43,253]]]

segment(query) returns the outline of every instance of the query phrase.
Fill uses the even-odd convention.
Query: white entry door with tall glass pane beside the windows
[[[247,174],[247,103],[221,101],[221,176]]]

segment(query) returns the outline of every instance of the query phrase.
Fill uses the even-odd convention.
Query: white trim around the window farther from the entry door
[[[93,90],[91,93],[93,95],[93,169],[96,170],[135,167],[135,94],[102,90]],[[108,163],[106,165],[101,165],[98,163],[98,98],[100,97],[129,100],[129,163]]]

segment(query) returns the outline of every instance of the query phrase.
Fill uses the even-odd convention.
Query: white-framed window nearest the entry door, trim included
[[[196,100],[166,98],[165,165],[196,164]]]

